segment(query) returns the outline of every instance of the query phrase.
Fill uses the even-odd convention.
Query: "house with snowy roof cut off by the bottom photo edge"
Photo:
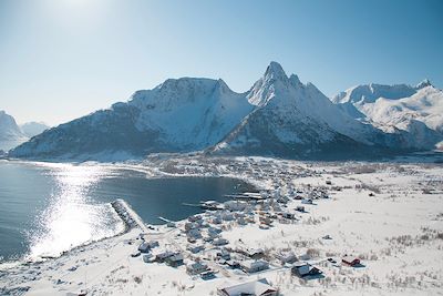
[[[278,289],[270,286],[266,278],[258,280],[217,288],[218,296],[277,296]]]

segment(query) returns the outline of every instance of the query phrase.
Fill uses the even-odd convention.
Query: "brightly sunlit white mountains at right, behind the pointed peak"
[[[429,80],[416,86],[358,85],[338,94],[332,102],[354,119],[387,133],[404,131],[426,146],[443,140],[443,91]]]

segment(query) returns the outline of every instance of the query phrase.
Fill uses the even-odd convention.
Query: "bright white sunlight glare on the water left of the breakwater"
[[[100,166],[53,165],[56,185],[50,205],[37,218],[37,231],[28,233],[29,256],[58,256],[87,242],[115,235],[124,225],[111,204],[94,204],[89,192],[110,171]]]

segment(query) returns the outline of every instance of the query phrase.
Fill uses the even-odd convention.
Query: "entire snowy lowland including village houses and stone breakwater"
[[[11,286],[24,285],[30,295],[412,295],[443,286],[436,263],[443,249],[439,166],[189,157],[151,160],[136,169],[148,176],[237,177],[254,187],[226,202],[208,196],[200,214],[161,217],[163,225],[146,225],[119,200],[113,207],[125,234],[55,259],[66,266],[64,275],[48,277],[40,267],[31,282],[13,274],[3,280],[12,278]],[[423,249],[430,255],[414,258]]]

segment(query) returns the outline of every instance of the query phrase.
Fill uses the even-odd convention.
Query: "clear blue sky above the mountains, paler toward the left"
[[[0,110],[59,124],[167,78],[247,91],[269,61],[327,95],[443,86],[440,0],[1,0]]]

